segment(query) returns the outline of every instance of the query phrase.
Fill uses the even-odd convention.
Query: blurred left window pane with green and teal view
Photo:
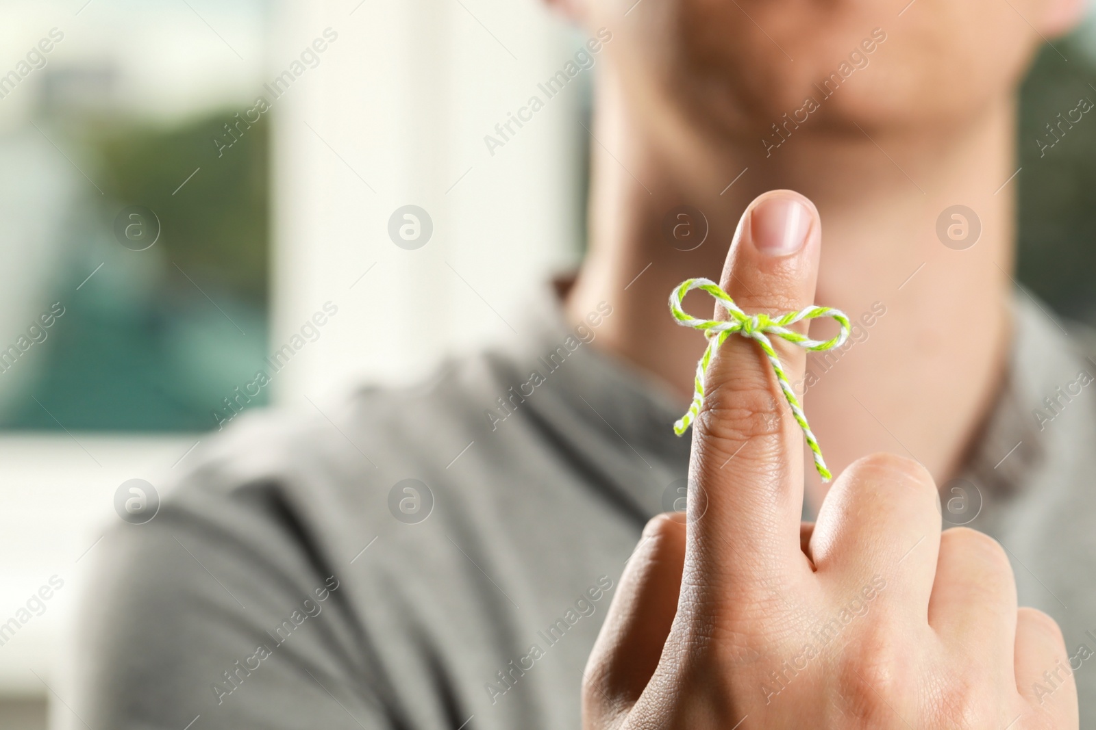
[[[266,5],[92,2],[0,7],[0,427],[206,430],[267,347]]]

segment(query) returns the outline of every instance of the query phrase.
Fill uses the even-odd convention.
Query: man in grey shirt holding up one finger
[[[995,193],[1017,80],[1081,4],[904,4],[567,2],[612,33],[576,278],[429,385],[207,449],[98,551],[75,715],[1070,728],[1077,693],[1096,718],[1092,363],[1014,291],[1015,186]],[[829,497],[745,338],[672,433],[705,339],[666,296],[698,276],[751,314],[854,318],[834,352],[777,343],[841,474]],[[855,461],[872,452],[901,456]],[[941,535],[937,487],[947,524],[1004,549]],[[688,524],[654,520],[633,553],[686,493]]]

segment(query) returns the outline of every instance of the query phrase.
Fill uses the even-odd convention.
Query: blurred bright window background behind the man
[[[0,3],[0,623],[64,583],[0,631],[0,727],[64,693],[123,482],[165,489],[237,412],[421,375],[578,260],[591,74],[483,136],[582,42],[538,0]],[[1019,279],[1096,323],[1096,120],[1036,142],[1081,97],[1091,19],[1024,84],[1016,182]]]

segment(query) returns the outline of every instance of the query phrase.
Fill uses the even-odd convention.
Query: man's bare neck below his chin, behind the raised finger
[[[889,451],[949,478],[1006,359],[1016,181],[1003,184],[1016,170],[1014,106],[931,132],[826,131],[823,119],[810,119],[766,157],[760,138],[751,148],[653,131],[665,119],[626,112],[612,83],[598,101],[590,251],[568,317],[613,304],[597,346],[669,383],[684,408],[705,340],[669,316],[670,290],[689,277],[718,280],[749,202],[795,189],[822,217],[815,301],[860,320],[847,349],[808,361],[807,414],[827,462],[838,473]],[[655,138],[673,139],[673,149]],[[699,209],[709,229],[689,252],[663,235],[667,212],[682,205]],[[937,235],[937,219],[955,205],[975,211],[981,225],[967,250]],[[817,485],[811,491],[821,495]]]

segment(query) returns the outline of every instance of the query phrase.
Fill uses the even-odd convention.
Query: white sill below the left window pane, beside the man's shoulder
[[[70,625],[76,606],[80,560],[118,521],[118,485],[146,479],[162,497],[172,476],[185,468],[184,454],[197,451],[187,453],[199,438],[60,433],[0,439],[0,623],[25,606],[52,576],[65,582],[41,615],[0,646],[0,700],[4,695],[45,695],[43,680],[64,692],[56,672],[61,628]]]

